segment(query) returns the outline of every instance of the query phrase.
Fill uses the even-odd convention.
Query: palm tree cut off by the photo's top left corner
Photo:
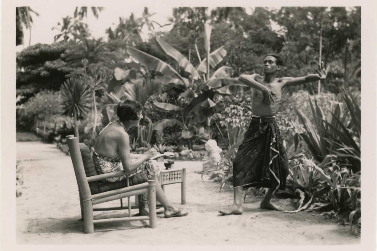
[[[23,27],[29,30],[29,46],[31,43],[31,25],[33,24],[33,18],[30,15],[34,13],[37,17],[39,14],[33,11],[29,6],[16,7],[16,46],[23,44]]]

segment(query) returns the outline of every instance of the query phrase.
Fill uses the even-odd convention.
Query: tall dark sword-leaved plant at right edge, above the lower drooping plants
[[[347,85],[340,91],[345,102],[337,103],[329,109],[327,116],[314,99],[314,105],[309,99],[309,105],[314,117],[314,123],[296,109],[299,121],[303,126],[297,126],[295,138],[300,137],[310,149],[318,163],[329,155],[337,156],[339,165],[346,166],[353,172],[360,171],[360,135],[361,111],[356,99]],[[296,140],[296,142],[297,142]]]

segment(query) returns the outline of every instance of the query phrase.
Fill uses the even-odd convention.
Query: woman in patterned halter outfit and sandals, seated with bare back
[[[160,169],[156,160],[149,158],[158,154],[156,149],[151,148],[144,154],[130,153],[130,139],[127,130],[133,126],[138,126],[143,118],[141,114],[142,105],[133,100],[121,101],[116,109],[119,120],[110,122],[98,135],[93,153],[93,163],[97,174],[106,172],[116,172],[124,170],[124,176],[106,179],[107,182],[116,182],[133,175],[143,176],[143,182],[147,177],[158,175]],[[132,160],[133,159],[133,160]],[[161,185],[156,179],[156,199],[164,207],[165,218],[186,216],[188,213],[174,207],[166,198]],[[147,194],[141,196],[141,202],[146,205]],[[146,208],[146,207],[145,207]]]

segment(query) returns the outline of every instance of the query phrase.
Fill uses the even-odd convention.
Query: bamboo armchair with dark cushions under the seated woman
[[[74,135],[68,135],[66,137],[69,154],[72,160],[72,164],[75,170],[76,181],[78,184],[81,218],[84,221],[84,232],[93,233],[94,223],[106,222],[106,221],[144,221],[149,220],[149,227],[156,228],[156,177],[152,180],[137,185],[130,186],[130,179],[127,176],[126,186],[124,182],[119,181],[115,183],[99,183],[100,180],[107,178],[117,177],[124,175],[123,171],[105,173],[97,175],[95,173],[91,156],[88,157],[89,148],[84,143],[78,143],[78,140]],[[83,160],[82,154],[85,154]],[[134,178],[134,177],[133,177]],[[116,189],[112,189],[116,187]],[[130,203],[130,197],[135,195],[141,195],[148,193],[149,200],[149,216],[132,216],[131,209],[139,208],[138,205],[132,206]],[[118,200],[122,198],[128,199],[127,207],[123,207],[122,201],[120,207],[107,207],[107,208],[93,208],[93,205],[101,204],[108,201]],[[122,210],[128,209],[127,217],[116,218],[104,218],[94,219],[93,211],[106,211],[106,210]],[[140,208],[139,208],[140,209]]]

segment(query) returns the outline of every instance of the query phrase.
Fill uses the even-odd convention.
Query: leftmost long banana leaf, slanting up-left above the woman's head
[[[140,64],[144,65],[149,70],[158,71],[162,73],[162,75],[170,78],[178,78],[185,86],[189,86],[189,81],[182,78],[182,76],[166,62],[130,46],[127,46],[126,51],[130,56],[135,58]]]

